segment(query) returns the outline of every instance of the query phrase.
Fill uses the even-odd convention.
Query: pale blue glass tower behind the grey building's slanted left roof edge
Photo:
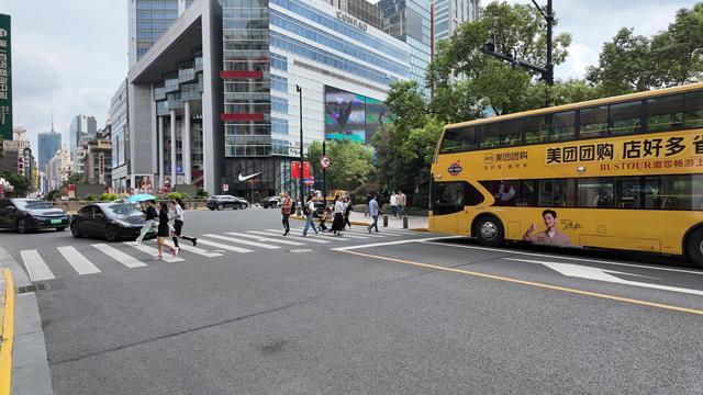
[[[130,67],[137,63],[193,0],[130,1]]]

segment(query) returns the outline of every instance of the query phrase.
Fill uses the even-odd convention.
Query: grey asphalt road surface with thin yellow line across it
[[[203,250],[110,245],[134,268],[68,232],[0,242],[53,276],[37,297],[56,394],[703,393],[701,270],[355,228],[283,238],[274,210],[187,212]]]

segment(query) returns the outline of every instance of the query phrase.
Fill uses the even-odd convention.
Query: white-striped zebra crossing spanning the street
[[[179,241],[180,251],[177,257],[172,257],[166,248],[160,261],[154,260],[157,255],[156,240],[142,245],[135,245],[133,241],[82,244],[78,246],[80,250],[75,246],[38,247],[21,250],[15,258],[24,266],[30,280],[36,282],[60,276],[55,272],[89,275],[115,268],[138,269],[154,264],[202,261],[202,258],[219,258],[228,253],[252,253],[301,246],[334,248],[349,242],[379,242],[384,239],[390,241],[417,235],[412,230],[387,228],[369,234],[366,227],[361,226],[347,229],[342,236],[334,236],[332,233],[315,235],[314,230],[309,229],[308,237],[303,237],[302,230],[302,226],[291,227],[290,234],[286,237],[280,228],[203,234],[198,236],[197,247],[187,240]],[[167,245],[172,246],[170,239]]]

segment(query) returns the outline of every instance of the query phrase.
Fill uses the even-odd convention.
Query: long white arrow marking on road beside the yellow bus
[[[601,269],[601,268],[585,267],[585,266],[573,264],[573,263],[559,263],[559,262],[551,262],[551,261],[516,259],[516,258],[502,258],[502,259],[517,261],[517,262],[544,264],[547,268],[549,268],[549,269],[551,269],[551,270],[554,270],[556,272],[559,272],[559,273],[561,273],[561,274],[563,274],[566,276],[581,278],[581,279],[587,279],[587,280],[605,281],[605,282],[611,282],[611,283],[616,283],[616,284],[640,286],[640,287],[648,287],[648,289],[652,289],[652,290],[671,291],[671,292],[688,293],[688,294],[691,294],[691,295],[703,296],[703,291],[699,291],[699,290],[689,290],[689,289],[682,289],[682,287],[678,287],[678,286],[659,285],[659,284],[644,283],[644,282],[639,282],[639,281],[624,280],[624,279],[617,278],[615,275],[611,275],[609,273],[627,274],[627,275],[636,275],[636,276],[647,278],[646,275],[624,273],[624,272],[618,272],[618,271],[614,271],[614,270],[605,270],[605,269]],[[652,278],[649,278],[649,279],[652,279]]]

